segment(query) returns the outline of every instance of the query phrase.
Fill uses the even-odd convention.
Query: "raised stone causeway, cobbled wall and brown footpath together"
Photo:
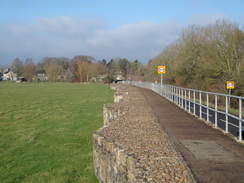
[[[244,182],[244,146],[155,92],[112,85],[93,135],[99,182]]]

